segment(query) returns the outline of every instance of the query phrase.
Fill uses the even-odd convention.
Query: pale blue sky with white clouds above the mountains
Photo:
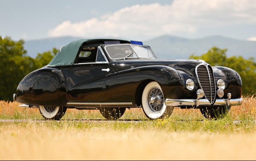
[[[256,41],[256,0],[0,0],[0,36]]]

